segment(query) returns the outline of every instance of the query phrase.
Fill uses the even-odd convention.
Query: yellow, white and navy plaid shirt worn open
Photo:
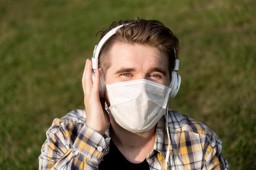
[[[47,139],[39,156],[39,170],[96,170],[108,153],[109,130],[104,136],[85,124],[85,110],[73,110],[61,119],[54,119],[47,130]],[[169,170],[229,170],[222,156],[218,136],[207,126],[168,110],[171,137]],[[168,148],[166,115],[156,127],[153,150],[148,153],[150,170],[163,170]],[[114,159],[114,158],[113,158]],[[121,169],[121,167],[120,167]]]

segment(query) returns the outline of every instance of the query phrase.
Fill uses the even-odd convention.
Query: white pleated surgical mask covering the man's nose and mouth
[[[131,132],[145,132],[166,113],[171,88],[146,79],[106,84],[110,106],[106,110],[117,124]]]

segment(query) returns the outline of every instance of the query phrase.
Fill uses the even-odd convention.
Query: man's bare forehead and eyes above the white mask
[[[105,75],[106,84],[147,79],[170,85],[168,56],[155,47],[117,43],[110,51],[111,66]]]

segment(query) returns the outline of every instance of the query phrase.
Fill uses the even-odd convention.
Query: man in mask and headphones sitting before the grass
[[[180,87],[178,46],[156,20],[120,20],[103,31],[85,64],[85,110],[54,120],[39,169],[228,170],[218,136],[168,110]]]

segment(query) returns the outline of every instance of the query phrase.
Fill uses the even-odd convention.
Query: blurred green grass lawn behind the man
[[[136,17],[162,21],[180,40],[170,108],[218,134],[230,169],[255,169],[255,9],[255,0],[0,0],[0,170],[38,169],[52,120],[84,108],[95,34]]]

